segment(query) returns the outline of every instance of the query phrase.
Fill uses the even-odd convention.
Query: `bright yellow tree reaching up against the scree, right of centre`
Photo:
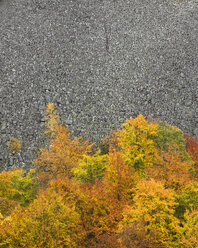
[[[144,173],[144,168],[152,167],[157,159],[153,137],[157,136],[158,124],[148,123],[142,115],[128,119],[123,129],[115,135],[124,163]]]

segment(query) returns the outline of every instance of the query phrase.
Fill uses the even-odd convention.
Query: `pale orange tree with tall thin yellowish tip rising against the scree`
[[[71,169],[77,166],[79,159],[91,152],[92,148],[92,145],[88,141],[83,141],[82,137],[72,139],[69,130],[59,125],[59,118],[52,104],[48,105],[46,112],[50,146],[41,149],[37,159],[34,160],[39,171],[39,180],[44,184],[50,179],[71,177],[73,175]]]

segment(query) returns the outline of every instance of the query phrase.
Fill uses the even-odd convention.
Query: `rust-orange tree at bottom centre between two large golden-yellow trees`
[[[108,184],[100,181],[96,181],[93,186],[87,185],[84,194],[86,200],[81,205],[82,216],[90,247],[100,243],[105,235],[112,237],[116,234],[123,206],[113,194],[109,194]]]

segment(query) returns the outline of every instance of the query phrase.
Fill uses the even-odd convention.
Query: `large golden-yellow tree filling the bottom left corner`
[[[40,192],[29,208],[15,208],[0,227],[0,247],[85,247],[75,206],[53,190]]]

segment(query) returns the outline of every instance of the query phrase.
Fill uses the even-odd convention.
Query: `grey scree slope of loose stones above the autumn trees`
[[[197,65],[197,0],[0,0],[0,169],[31,167],[48,102],[91,141],[140,113],[198,139]]]

